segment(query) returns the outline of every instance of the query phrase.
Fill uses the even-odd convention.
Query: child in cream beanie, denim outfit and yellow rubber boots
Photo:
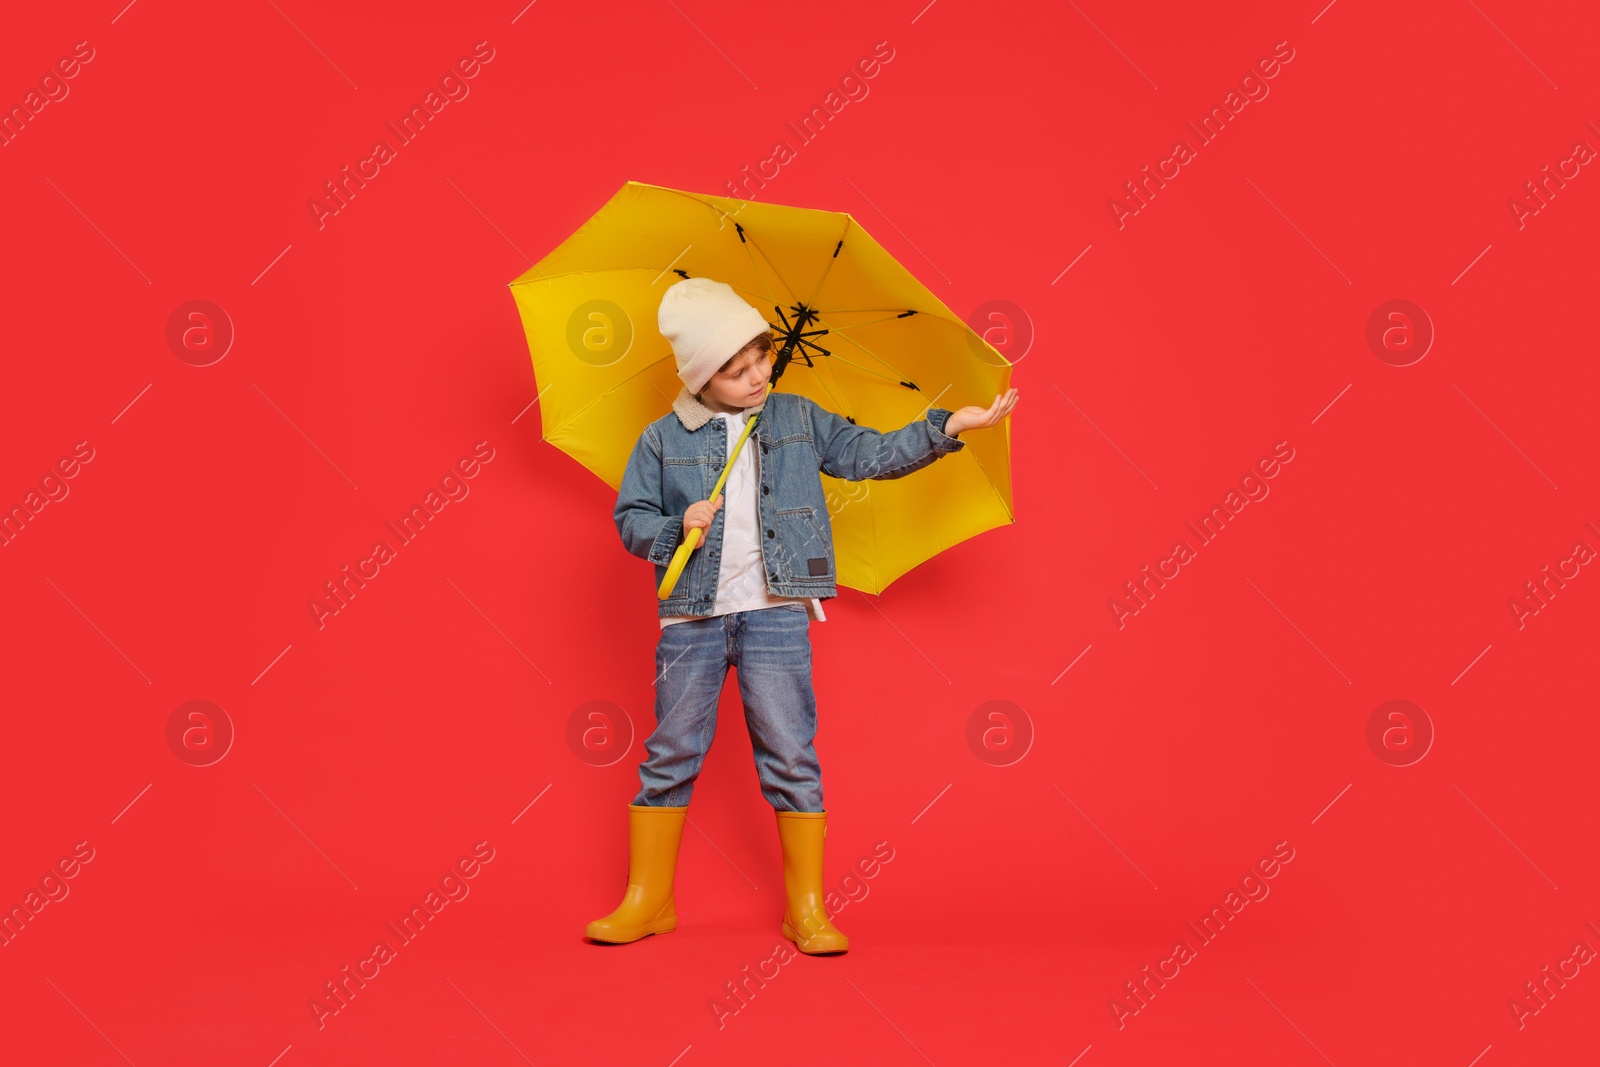
[[[627,550],[656,565],[658,585],[682,536],[698,528],[704,541],[658,608],[656,729],[629,805],[627,891],[586,933],[630,942],[677,928],[678,843],[733,665],[762,795],[778,816],[787,897],[782,934],[808,955],[840,953],[850,939],[822,907],[827,813],[813,745],[808,627],[813,617],[822,621],[821,601],[837,595],[818,472],[859,482],[920,470],[965,448],[957,440],[963,430],[995,426],[1014,406],[1016,390],[989,408],[931,408],[926,419],[880,434],[805,397],[768,394],[771,331],[722,282],[672,285],[661,298],[658,326],[672,342],[683,387],[672,413],[638,437],[613,517]],[[762,418],[723,494],[704,499],[757,413]]]

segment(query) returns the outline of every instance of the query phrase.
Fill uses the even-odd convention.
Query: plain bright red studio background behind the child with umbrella
[[[1600,547],[1600,176],[1507,206],[1600,146],[1589,5],[112,0],[6,29],[8,109],[94,50],[0,149],[0,501],[94,451],[0,549],[0,901],[94,849],[0,949],[8,1059],[1594,1056],[1592,966],[1509,1008],[1600,947],[1600,577],[1509,608]],[[477,42],[470,94],[318,229],[323,182]],[[678,931],[582,941],[626,877],[651,574],[541,443],[504,286],[627,179],[725,192],[877,42],[869,96],[760,195],[853,213],[962,314],[1022,309],[1016,523],[813,627],[827,885],[894,859],[838,915],[850,955],[718,1027],[779,941],[773,816],[730,680]],[[1118,229],[1123,182],[1278,42],[1270,94]],[[166,342],[190,299],[237,331],[210,366]],[[1410,366],[1365,339],[1390,299],[1437,331]],[[318,629],[322,584],[478,442],[470,496]],[[1277,442],[1270,496],[1118,629],[1123,582]],[[210,766],[168,745],[192,699],[235,729]],[[1390,699],[1435,731],[1410,766],[1366,739]],[[635,729],[611,766],[568,747],[587,701]],[[966,741],[989,701],[1034,733],[1010,766]],[[323,982],[477,841],[470,896],[318,1029]],[[1270,896],[1118,1027],[1278,841]]]

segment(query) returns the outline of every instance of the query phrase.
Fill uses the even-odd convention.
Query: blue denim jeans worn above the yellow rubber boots
[[[762,795],[778,811],[822,811],[811,689],[811,616],[805,605],[674,622],[656,645],[656,729],[638,765],[635,805],[690,803],[728,667],[739,675]]]

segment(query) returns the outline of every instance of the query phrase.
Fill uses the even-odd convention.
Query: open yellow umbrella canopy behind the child
[[[533,354],[544,440],[613,490],[682,382],[656,330],[680,278],[726,282],[778,334],[774,386],[858,426],[894,430],[931,406],[987,405],[1011,363],[843,211],[626,182],[510,283]],[[904,478],[822,475],[838,584],[869,593],[1013,522],[1011,424]]]

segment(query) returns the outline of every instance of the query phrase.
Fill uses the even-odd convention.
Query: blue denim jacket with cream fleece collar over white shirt
[[[770,392],[747,414],[760,413],[744,442],[755,450],[758,530],[773,597],[837,597],[834,530],[822,493],[822,474],[850,482],[902,478],[966,443],[944,435],[950,413],[930,408],[925,419],[882,434],[856,426],[813,400]],[[710,498],[728,459],[728,422],[686,389],[672,411],[645,427],[622,472],[616,498],[618,533],[634,555],[656,565],[656,585],[683,534],[683,512]],[[725,509],[717,509],[702,544],[690,553],[672,595],[659,601],[661,617],[709,616],[717,605]]]

